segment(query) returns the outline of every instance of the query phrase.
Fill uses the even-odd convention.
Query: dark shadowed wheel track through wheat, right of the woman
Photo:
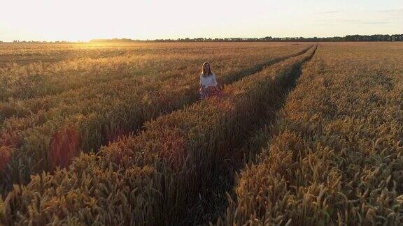
[[[316,50],[317,48],[318,46],[316,46]],[[299,64],[295,73],[293,73],[289,80],[276,81],[277,84],[281,86],[280,90],[282,90],[282,93],[280,98],[274,101],[272,100],[272,102],[275,103],[274,110],[269,112],[264,119],[262,119],[261,124],[256,125],[253,130],[250,130],[246,135],[244,144],[241,145],[239,149],[236,149],[232,156],[225,158],[219,167],[215,169],[215,178],[211,179],[208,190],[204,190],[204,193],[199,193],[199,202],[190,211],[189,216],[191,217],[187,219],[188,222],[185,222],[185,224],[208,225],[208,223],[215,223],[218,218],[225,213],[225,210],[227,209],[226,194],[229,193],[229,195],[234,198],[233,188],[236,183],[235,175],[241,172],[241,169],[245,167],[246,163],[250,162],[250,160],[253,160],[257,156],[261,148],[264,145],[267,145],[267,142],[254,146],[256,149],[256,152],[253,153],[254,156],[248,156],[249,158],[252,157],[252,159],[245,158],[246,153],[243,153],[245,150],[243,148],[250,145],[250,140],[254,135],[259,133],[260,130],[269,130],[269,132],[271,132],[270,128],[272,128],[273,123],[276,122],[278,111],[281,110],[283,105],[285,105],[288,93],[290,93],[290,91],[292,91],[297,85],[297,79],[302,74],[302,66],[312,59],[316,50],[314,50],[313,54],[306,59],[306,61]],[[267,139],[267,141],[269,140]]]

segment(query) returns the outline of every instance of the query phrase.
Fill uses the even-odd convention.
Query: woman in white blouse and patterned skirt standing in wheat
[[[200,74],[200,98],[221,96],[221,90],[218,87],[215,75],[211,71],[210,63],[204,62]]]

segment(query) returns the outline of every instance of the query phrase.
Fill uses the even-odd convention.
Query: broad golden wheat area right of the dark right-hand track
[[[396,50],[319,47],[217,225],[402,225],[403,56]]]

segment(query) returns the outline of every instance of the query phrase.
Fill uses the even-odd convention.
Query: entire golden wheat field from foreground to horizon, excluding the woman
[[[221,97],[199,100],[209,61]],[[400,43],[0,44],[0,225],[403,225]]]

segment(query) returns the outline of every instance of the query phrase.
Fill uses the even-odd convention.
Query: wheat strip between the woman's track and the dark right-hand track
[[[69,169],[32,176],[0,201],[1,222],[189,222],[188,204],[197,202],[222,158],[241,144],[243,131],[270,109],[270,98],[279,95],[276,86],[313,52],[234,82],[222,98],[160,116],[138,136],[111,143],[97,155],[82,154]],[[38,208],[29,211],[32,205]]]

